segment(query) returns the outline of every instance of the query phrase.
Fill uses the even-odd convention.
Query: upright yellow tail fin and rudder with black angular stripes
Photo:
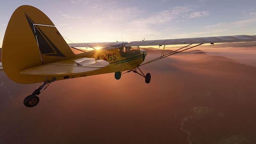
[[[39,9],[22,5],[12,14],[2,46],[6,75],[17,83],[46,81],[45,76],[27,76],[20,71],[45,63],[75,57],[52,21]]]

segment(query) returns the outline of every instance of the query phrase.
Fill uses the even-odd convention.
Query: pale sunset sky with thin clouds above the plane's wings
[[[256,35],[256,1],[8,0],[0,5],[0,47],[20,5],[44,12],[67,43]]]

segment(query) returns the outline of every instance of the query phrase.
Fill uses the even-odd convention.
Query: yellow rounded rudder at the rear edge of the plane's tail
[[[23,5],[12,14],[4,34],[2,64],[5,74],[17,83],[30,84],[44,82],[45,76],[26,76],[23,69],[42,65],[36,39],[25,16],[26,12],[35,22],[51,24],[52,21],[35,7]]]

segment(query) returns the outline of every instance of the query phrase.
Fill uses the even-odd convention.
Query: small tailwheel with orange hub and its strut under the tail
[[[44,90],[49,86],[49,83],[51,83],[51,82],[44,82],[44,84],[43,85],[41,85],[38,89],[36,89],[31,95],[29,95],[29,96],[27,96],[25,99],[24,99],[24,101],[23,101],[23,103],[24,103],[24,105],[26,106],[26,107],[29,107],[29,108],[31,108],[31,107],[35,107],[37,104],[38,104],[38,102],[39,102],[39,97],[38,97],[38,95],[41,93],[40,91],[44,88],[44,86],[47,84],[47,86],[44,88]],[[43,91],[44,91],[43,90]],[[42,92],[43,92],[42,91]]]

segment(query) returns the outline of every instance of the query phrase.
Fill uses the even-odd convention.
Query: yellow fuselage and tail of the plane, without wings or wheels
[[[143,61],[142,53],[128,58],[121,57],[115,47],[74,54],[57,28],[34,25],[38,30],[36,33],[38,36],[41,35],[41,40],[48,46],[47,50],[51,51],[51,53],[42,52],[42,48],[45,47],[42,45],[40,47],[38,38],[35,38],[34,32],[31,30],[34,28],[33,24],[31,28],[26,15],[36,24],[53,26],[52,21],[35,7],[23,5],[13,12],[4,35],[1,58],[4,72],[17,83],[31,84],[53,79],[63,80],[64,76],[65,78],[76,78],[125,71],[136,68]],[[56,51],[56,47],[60,52]],[[62,53],[63,56],[52,55],[56,53]],[[138,59],[134,60],[133,57]],[[77,66],[74,60],[81,58],[101,59],[108,61],[109,65],[107,66],[106,62],[104,64],[104,61],[95,64],[83,61],[81,63],[88,66]],[[131,60],[130,64],[127,62],[128,59]]]

